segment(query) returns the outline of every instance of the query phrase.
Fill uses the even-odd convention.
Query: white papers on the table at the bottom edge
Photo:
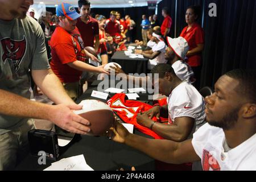
[[[94,171],[85,162],[84,155],[72,156],[71,158],[61,159],[51,166],[44,169],[44,171]]]

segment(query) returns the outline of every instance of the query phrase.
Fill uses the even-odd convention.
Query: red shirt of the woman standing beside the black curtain
[[[196,48],[197,44],[204,44],[204,31],[199,24],[195,23],[188,31],[187,29],[188,26],[183,28],[180,36],[187,40],[189,51]],[[188,64],[191,67],[197,67],[201,65],[201,53],[188,56]]]

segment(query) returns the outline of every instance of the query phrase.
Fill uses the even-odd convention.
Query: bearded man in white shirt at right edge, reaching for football
[[[205,98],[207,122],[184,142],[130,134],[121,124],[109,137],[172,164],[200,161],[204,170],[256,170],[256,71],[221,76]]]

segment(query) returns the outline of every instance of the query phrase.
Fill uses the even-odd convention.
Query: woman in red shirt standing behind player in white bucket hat
[[[196,22],[200,16],[200,8],[189,6],[185,14],[185,20],[188,26],[183,28],[180,36],[188,42],[189,51],[187,53],[188,64],[193,69],[196,82],[195,87],[199,89],[201,75],[201,52],[204,49],[204,31]]]

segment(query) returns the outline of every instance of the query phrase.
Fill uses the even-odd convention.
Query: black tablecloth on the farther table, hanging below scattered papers
[[[130,58],[125,55],[125,51],[117,51],[111,58],[112,62],[121,65],[125,73],[147,73],[148,59]]]

